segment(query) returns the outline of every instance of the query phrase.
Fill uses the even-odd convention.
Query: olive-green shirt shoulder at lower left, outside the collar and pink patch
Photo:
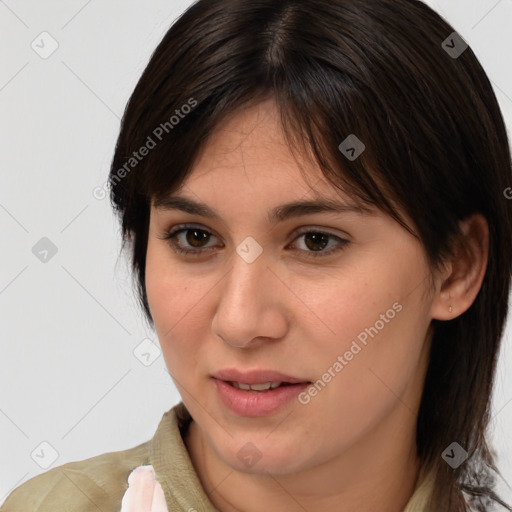
[[[150,441],[128,450],[69,462],[17,487],[1,512],[121,510],[130,472],[148,461]]]

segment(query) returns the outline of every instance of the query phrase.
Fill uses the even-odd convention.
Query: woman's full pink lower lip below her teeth
[[[290,384],[268,391],[246,391],[219,379],[213,379],[224,405],[239,416],[267,416],[291,402],[309,384]]]

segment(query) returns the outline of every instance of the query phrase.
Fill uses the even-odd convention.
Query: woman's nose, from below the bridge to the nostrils
[[[284,337],[288,325],[285,301],[290,292],[272,268],[266,251],[251,263],[234,252],[232,262],[219,285],[213,333],[235,348],[255,347]]]

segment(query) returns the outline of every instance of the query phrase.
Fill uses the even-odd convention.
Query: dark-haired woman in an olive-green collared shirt
[[[490,510],[511,156],[482,67],[415,0],[200,0],[110,173],[182,402],[14,510]]]

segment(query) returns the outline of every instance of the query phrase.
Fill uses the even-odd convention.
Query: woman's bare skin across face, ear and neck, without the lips
[[[434,289],[420,242],[378,210],[269,224],[267,211],[292,200],[351,202],[292,156],[270,100],[222,123],[175,194],[222,219],[153,206],[146,261],[155,329],[193,417],[185,443],[212,503],[222,512],[263,512],[269,503],[284,512],[403,510],[420,468],[415,430],[431,320],[473,302],[487,263],[485,220],[464,225],[470,250],[433,275]],[[210,252],[173,251],[163,236],[183,223],[211,236],[202,245],[186,233],[174,241]],[[334,235],[324,252],[339,247],[336,236],[349,243],[314,258],[318,246],[297,234],[302,228]],[[250,264],[235,250],[247,236],[263,248]],[[220,401],[210,374],[221,368],[315,382],[396,302],[401,311],[306,405],[293,400],[247,418]],[[247,442],[261,453],[252,467],[237,457]]]

